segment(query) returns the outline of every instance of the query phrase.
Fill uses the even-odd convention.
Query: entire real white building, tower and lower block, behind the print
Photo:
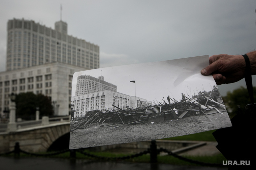
[[[6,71],[0,72],[0,113],[8,110],[11,93],[51,97],[55,115],[68,115],[74,72],[99,68],[99,46],[67,34],[67,23],[55,29],[33,20],[7,23]]]

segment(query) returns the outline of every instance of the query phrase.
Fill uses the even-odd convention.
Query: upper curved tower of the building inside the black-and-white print
[[[90,75],[79,75],[77,77],[75,96],[102,90],[111,90],[117,92],[117,86],[104,81],[103,76],[96,78]]]

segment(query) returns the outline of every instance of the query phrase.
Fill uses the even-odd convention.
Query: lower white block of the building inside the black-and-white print
[[[75,117],[83,117],[89,111],[109,110],[130,107],[130,96],[111,90],[88,93],[72,97],[72,107]]]

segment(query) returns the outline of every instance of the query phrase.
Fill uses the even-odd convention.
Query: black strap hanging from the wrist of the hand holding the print
[[[251,64],[249,57],[244,54],[243,57],[245,58],[245,63],[246,63],[246,69],[245,69],[245,82],[246,82],[246,87],[249,93],[249,97],[251,99],[252,105],[254,104],[254,98],[253,98],[253,88],[252,88],[252,75],[251,75]]]

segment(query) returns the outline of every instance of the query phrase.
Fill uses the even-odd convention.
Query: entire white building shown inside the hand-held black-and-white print
[[[86,113],[93,110],[105,112],[117,108],[137,108],[151,104],[146,99],[117,92],[117,86],[104,81],[103,76],[96,78],[90,75],[79,75],[75,96],[72,96],[74,117],[84,117]]]

